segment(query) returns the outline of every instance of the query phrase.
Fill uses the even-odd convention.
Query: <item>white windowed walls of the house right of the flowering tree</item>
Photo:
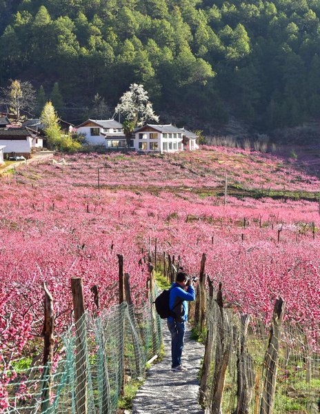
[[[134,135],[134,148],[138,151],[181,151],[183,150],[182,133],[166,134],[157,131],[138,131]]]

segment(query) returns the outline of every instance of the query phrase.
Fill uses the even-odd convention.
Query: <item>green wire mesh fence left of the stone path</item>
[[[139,309],[123,302],[96,317],[85,313],[63,336],[53,366],[18,371],[2,386],[0,413],[115,413],[124,384],[141,378],[159,354],[161,322],[153,308],[150,298]]]

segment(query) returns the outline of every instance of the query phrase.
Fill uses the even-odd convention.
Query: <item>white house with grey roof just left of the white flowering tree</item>
[[[90,145],[106,146],[107,148],[126,147],[126,135],[123,126],[114,119],[88,119],[76,126],[77,132],[86,136]]]

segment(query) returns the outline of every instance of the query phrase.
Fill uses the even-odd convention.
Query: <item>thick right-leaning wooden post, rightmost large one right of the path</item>
[[[273,413],[279,361],[279,344],[285,308],[285,302],[279,297],[274,304],[268,348],[263,361],[263,390],[261,395],[260,414]]]

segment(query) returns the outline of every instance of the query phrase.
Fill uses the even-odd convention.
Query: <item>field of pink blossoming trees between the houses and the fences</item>
[[[239,197],[227,192],[225,206],[226,173]],[[70,324],[71,277],[83,277],[89,310],[94,284],[101,307],[117,303],[117,254],[134,303],[143,303],[147,269],[139,260],[155,239],[159,255],[180,255],[190,273],[206,253],[206,273],[245,313],[268,320],[281,295],[286,318],[307,326],[319,346],[319,203],[241,193],[261,188],[312,200],[320,181],[283,159],[226,148],[55,157],[2,177],[0,372],[39,351],[43,282],[54,297],[57,340]]]

